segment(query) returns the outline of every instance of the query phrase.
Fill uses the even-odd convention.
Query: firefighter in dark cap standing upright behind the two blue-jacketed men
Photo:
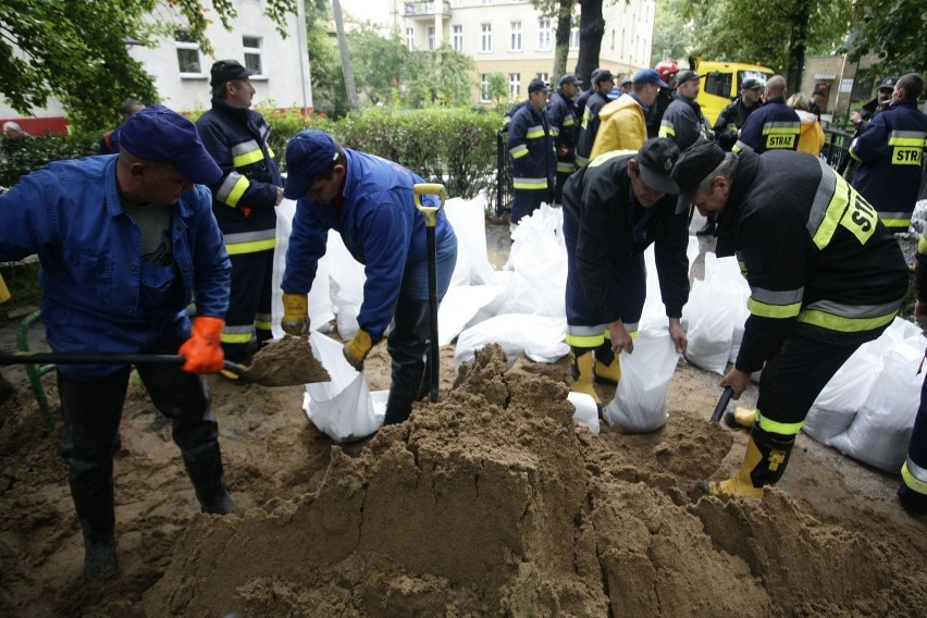
[[[271,279],[276,244],[275,207],[283,180],[268,144],[270,125],[250,110],[252,72],[220,60],[210,72],[212,109],[196,126],[222,177],[210,185],[212,211],[232,260],[232,292],[222,347],[233,362],[245,362],[251,338],[271,338]],[[237,375],[222,371],[230,380]]]

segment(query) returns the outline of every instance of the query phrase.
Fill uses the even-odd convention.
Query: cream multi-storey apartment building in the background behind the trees
[[[473,58],[470,75],[473,100],[489,103],[489,76],[508,78],[512,100],[528,96],[534,77],[549,79],[554,67],[556,17],[541,14],[528,0],[444,0],[401,2],[393,0],[391,18],[409,49],[434,49],[447,41]],[[579,54],[579,4],[570,30],[567,71]],[[655,0],[603,2],[605,34],[600,66],[620,75],[651,66]]]

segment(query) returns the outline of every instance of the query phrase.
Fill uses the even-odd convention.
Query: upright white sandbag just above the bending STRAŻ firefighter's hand
[[[689,302],[682,309],[689,327],[685,360],[706,371],[725,374],[740,302],[739,292],[718,283],[699,280],[692,283]]]

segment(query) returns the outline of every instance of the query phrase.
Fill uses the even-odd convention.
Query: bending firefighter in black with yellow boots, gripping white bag
[[[669,333],[685,351],[680,318],[689,300],[688,210],[677,211],[669,177],[678,157],[673,143],[651,139],[640,151],[600,154],[564,187],[570,390],[600,406],[593,382],[616,384],[617,354],[634,348],[646,297],[643,254],[653,243]]]

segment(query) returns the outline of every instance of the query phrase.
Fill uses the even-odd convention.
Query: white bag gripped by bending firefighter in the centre
[[[666,424],[666,392],[679,354],[669,331],[641,331],[632,354],[621,353],[621,380],[605,408],[609,425],[632,433],[655,431]]]

